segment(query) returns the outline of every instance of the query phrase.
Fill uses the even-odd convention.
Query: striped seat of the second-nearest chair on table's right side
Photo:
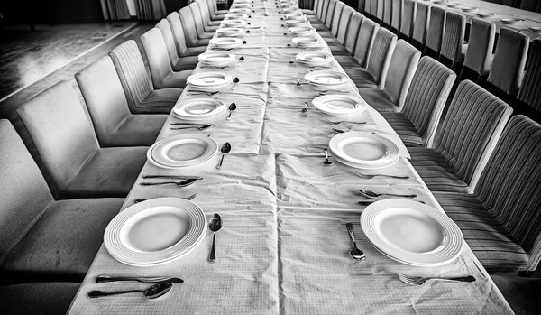
[[[468,185],[454,175],[453,167],[436,150],[412,147],[408,151],[411,164],[430,191],[468,192]]]

